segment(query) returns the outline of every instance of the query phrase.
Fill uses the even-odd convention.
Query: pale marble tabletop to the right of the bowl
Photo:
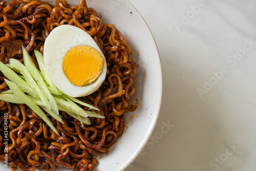
[[[157,42],[163,98],[126,170],[256,170],[256,1],[130,2]]]

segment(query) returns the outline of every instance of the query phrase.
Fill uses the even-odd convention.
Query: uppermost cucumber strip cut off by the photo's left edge
[[[3,62],[0,61],[0,71],[5,75],[6,78],[17,84],[20,89],[22,89],[24,92],[34,96],[38,97],[37,94],[31,89],[29,84],[22,78],[20,78],[12,69],[7,67]]]

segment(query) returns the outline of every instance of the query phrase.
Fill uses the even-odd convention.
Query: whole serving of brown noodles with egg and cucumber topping
[[[114,25],[103,24],[84,0],[77,6],[66,1],[56,1],[56,5],[1,1],[0,11],[0,161],[12,170],[92,170],[97,163],[93,156],[108,153],[124,130],[122,116],[135,93],[134,75],[139,67],[130,57],[130,46],[121,32]],[[51,44],[51,35],[62,25],[89,34],[96,46],[91,40],[75,45],[71,42],[72,47],[62,46],[59,54],[54,54],[49,46],[58,45]],[[67,42],[62,40],[59,44]],[[80,55],[86,56],[80,62],[89,62],[84,67],[95,70],[98,65],[92,79],[80,84],[79,78],[91,75],[83,77],[81,70],[72,71],[74,63],[71,68],[68,65],[77,60],[69,58],[72,53],[84,51],[100,55],[92,61],[85,54]],[[58,60],[51,62],[55,58]],[[78,61],[77,66],[80,65]],[[62,75],[51,75],[57,73],[55,69]],[[63,79],[66,82],[61,82]],[[75,91],[78,87],[92,87],[97,81],[97,86],[101,81],[102,84],[93,91]],[[72,89],[66,89],[68,85]]]

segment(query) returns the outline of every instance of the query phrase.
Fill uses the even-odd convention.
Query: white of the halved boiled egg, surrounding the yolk
[[[62,62],[66,53],[73,47],[87,45],[96,49],[103,58],[103,69],[99,77],[86,86],[75,86],[66,76]],[[82,97],[97,91],[105,80],[106,60],[94,39],[83,30],[70,25],[61,25],[53,29],[46,38],[44,61],[47,73],[55,86],[71,97]],[[77,63],[79,65],[79,63]]]

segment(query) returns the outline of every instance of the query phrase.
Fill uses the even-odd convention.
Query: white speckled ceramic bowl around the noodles
[[[7,1],[8,3],[9,1]],[[55,1],[47,1],[54,3]],[[79,1],[68,1],[70,5],[78,5]],[[88,1],[88,7],[94,8],[98,16],[101,13],[105,24],[115,24],[117,29],[129,42],[132,58],[140,64],[135,76],[136,92],[131,100],[138,99],[139,105],[135,112],[125,114],[125,130],[111,151],[102,155],[94,170],[112,171],[123,170],[140,153],[150,138],[160,111],[162,98],[162,69],[160,57],[153,35],[140,13],[129,2]],[[10,166],[0,165],[1,169],[10,170]],[[71,170],[64,167],[57,170]],[[132,169],[131,169],[132,170]]]

